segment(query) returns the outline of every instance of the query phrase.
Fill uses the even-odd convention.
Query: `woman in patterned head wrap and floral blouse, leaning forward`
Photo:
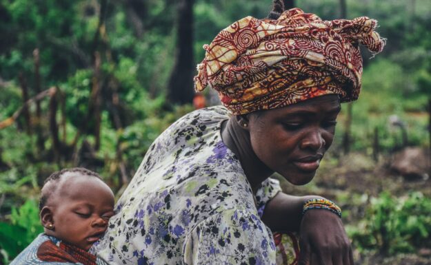
[[[195,84],[216,89],[224,107],[192,112],[154,141],[93,251],[112,264],[275,264],[271,231],[299,231],[299,260],[292,240],[283,262],[353,264],[339,208],[286,195],[269,177],[312,180],[340,102],[359,95],[357,43],[383,49],[375,27],[274,1],[270,19],[222,30]]]

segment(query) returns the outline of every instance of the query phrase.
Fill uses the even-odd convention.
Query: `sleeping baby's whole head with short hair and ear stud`
[[[45,233],[88,251],[114,215],[114,193],[99,174],[63,169],[45,180],[39,203]]]

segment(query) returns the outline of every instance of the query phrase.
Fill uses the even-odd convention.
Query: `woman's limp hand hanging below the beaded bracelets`
[[[299,229],[299,265],[353,265],[343,222],[324,209],[308,210]]]

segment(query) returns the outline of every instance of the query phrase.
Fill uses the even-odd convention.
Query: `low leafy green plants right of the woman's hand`
[[[383,253],[408,253],[431,240],[431,199],[413,192],[395,198],[383,192],[371,198],[365,216],[348,234],[360,250]]]

